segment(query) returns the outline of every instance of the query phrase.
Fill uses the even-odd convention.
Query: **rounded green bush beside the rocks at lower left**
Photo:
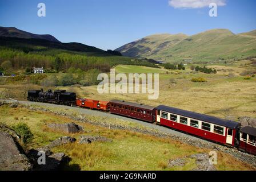
[[[33,134],[26,123],[18,123],[17,125],[13,126],[13,130],[25,144],[31,142]]]

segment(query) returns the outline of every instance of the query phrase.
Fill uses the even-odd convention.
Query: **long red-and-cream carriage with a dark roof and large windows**
[[[238,144],[240,123],[194,113],[169,106],[155,107],[156,122],[163,126],[181,130],[189,134],[213,140],[218,143]]]

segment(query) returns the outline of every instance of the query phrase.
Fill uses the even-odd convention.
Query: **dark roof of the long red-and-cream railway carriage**
[[[178,108],[175,108],[175,107],[159,105],[159,106],[155,107],[155,109],[166,111],[168,113],[182,115],[183,117],[197,119],[199,121],[205,121],[205,122],[213,123],[215,125],[229,127],[231,129],[235,129],[238,126],[241,125],[241,123],[238,123],[238,122],[235,122],[235,121],[216,118],[216,117],[213,117],[213,116],[210,116],[210,115],[205,115],[205,114],[194,113],[192,111],[182,110],[182,109],[178,109]]]

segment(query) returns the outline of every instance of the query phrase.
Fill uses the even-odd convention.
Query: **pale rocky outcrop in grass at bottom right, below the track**
[[[205,153],[194,154],[187,156],[185,158],[178,158],[174,160],[169,160],[168,167],[182,167],[186,164],[186,159],[195,159],[195,164],[197,167],[193,171],[216,171],[213,164],[209,162],[209,155]]]

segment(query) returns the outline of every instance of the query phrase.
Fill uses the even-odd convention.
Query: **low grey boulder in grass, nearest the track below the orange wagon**
[[[79,133],[83,131],[83,127],[75,123],[51,123],[47,126],[54,131],[63,131],[65,133]]]

